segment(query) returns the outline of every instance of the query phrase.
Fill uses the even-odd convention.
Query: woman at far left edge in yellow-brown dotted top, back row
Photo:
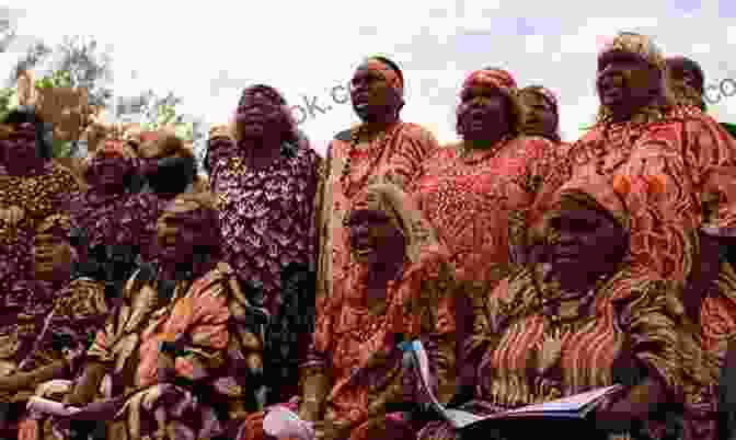
[[[49,132],[30,107],[0,120],[0,291],[30,270],[31,243],[39,222],[66,208],[79,189],[66,167],[50,160]]]

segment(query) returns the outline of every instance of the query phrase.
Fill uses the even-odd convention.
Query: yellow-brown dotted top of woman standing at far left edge
[[[0,221],[0,291],[25,278],[33,231],[43,219],[66,208],[78,189],[71,172],[54,162],[47,162],[42,174],[30,176],[12,176],[0,167],[0,206],[25,210],[25,218],[14,227]]]

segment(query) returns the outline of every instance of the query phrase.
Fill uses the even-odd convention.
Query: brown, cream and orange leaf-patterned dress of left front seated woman
[[[159,305],[158,282],[139,280],[139,274],[127,282],[122,305],[87,354],[107,368],[100,400],[125,401],[106,424],[106,438],[209,439],[225,433],[228,419],[243,412],[248,386],[253,386],[244,381],[262,364],[263,346],[260,332],[249,327],[251,306],[232,269],[221,263],[198,279],[177,282],[165,305]],[[164,340],[181,345],[172,355],[174,377],[160,370]],[[252,367],[250,373],[238,370],[244,364]],[[60,398],[71,386],[39,390]],[[28,436],[67,439],[71,425],[67,418],[34,414],[23,429]]]

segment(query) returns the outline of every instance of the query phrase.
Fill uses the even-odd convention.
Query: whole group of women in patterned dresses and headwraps
[[[171,132],[115,127],[70,170],[42,112],[7,115],[0,438],[273,440],[285,407],[320,440],[458,439],[421,340],[451,408],[620,384],[601,438],[731,439],[736,135],[698,62],[618,34],[572,143],[554,93],[488,67],[440,146],[401,119],[404,81],[364,60],[325,158],[249,86],[207,177]]]

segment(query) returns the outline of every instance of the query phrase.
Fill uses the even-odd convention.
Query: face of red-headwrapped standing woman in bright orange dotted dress
[[[465,147],[488,149],[511,131],[509,103],[501,91],[470,86],[460,100],[458,120]]]

